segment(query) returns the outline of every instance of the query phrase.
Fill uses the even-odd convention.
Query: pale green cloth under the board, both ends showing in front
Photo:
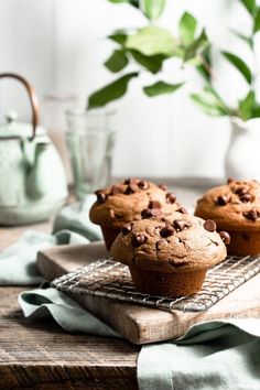
[[[120,337],[108,325],[55,289],[22,292],[19,303],[32,319],[52,316],[67,332]],[[144,345],[138,358],[140,390],[260,389],[260,318],[192,326],[176,340]]]

